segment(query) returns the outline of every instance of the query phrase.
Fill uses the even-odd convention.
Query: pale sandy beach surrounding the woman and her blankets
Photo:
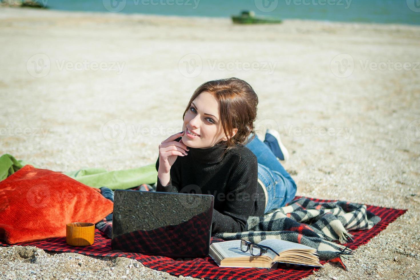
[[[297,195],[408,209],[308,279],[420,278],[420,26],[0,8],[0,155],[41,168],[154,163],[194,89],[237,77]],[[36,254],[34,252],[37,252]],[[176,278],[127,258],[0,248],[3,279]],[[191,278],[191,277],[188,277]]]

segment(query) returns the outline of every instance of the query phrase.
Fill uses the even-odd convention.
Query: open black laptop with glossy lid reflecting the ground
[[[112,249],[205,257],[210,249],[213,205],[210,194],[115,190]]]

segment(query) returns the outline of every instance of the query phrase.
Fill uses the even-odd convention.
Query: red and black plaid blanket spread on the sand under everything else
[[[322,199],[311,199],[315,202],[329,202]],[[391,209],[367,205],[367,210],[374,215],[381,217],[373,228],[369,230],[352,231],[353,242],[349,243],[350,249],[356,249],[362,244],[369,242],[371,238],[386,228],[397,217],[404,214],[407,210]],[[212,242],[223,241],[220,238],[211,238]],[[18,243],[21,246],[36,246],[40,249],[56,252],[75,252],[91,256],[125,256],[136,259],[146,267],[154,270],[162,270],[172,275],[192,276],[205,279],[301,279],[312,273],[309,267],[287,267],[284,264],[278,265],[276,269],[263,268],[228,268],[219,267],[212,258],[196,259],[173,259],[165,256],[148,256],[138,253],[124,253],[111,250],[111,240],[100,230],[95,232],[95,243],[92,246],[72,247],[66,244],[66,238],[49,238],[42,241],[30,243]],[[10,246],[0,242],[0,246]],[[326,261],[321,261],[325,264]]]

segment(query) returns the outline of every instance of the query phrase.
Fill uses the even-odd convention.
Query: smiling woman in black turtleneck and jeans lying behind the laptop
[[[156,191],[212,194],[212,235],[244,231],[249,216],[290,202],[296,184],[277,131],[254,131],[258,97],[243,80],[208,81],[192,95],[183,131],[159,145]]]

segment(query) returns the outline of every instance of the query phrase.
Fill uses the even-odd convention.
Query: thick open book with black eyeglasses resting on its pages
[[[220,267],[271,268],[276,262],[323,267],[319,262],[317,250],[311,247],[279,239],[265,239],[258,244],[270,247],[280,256],[271,250],[267,250],[261,256],[252,256],[249,249],[246,252],[241,251],[240,240],[212,243],[209,256]]]

